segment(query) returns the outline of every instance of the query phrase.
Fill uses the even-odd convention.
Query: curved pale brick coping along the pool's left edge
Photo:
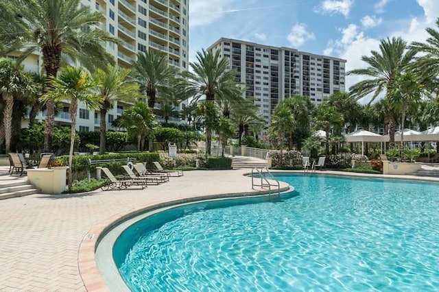
[[[280,183],[281,193],[290,193],[294,191],[294,187],[290,186],[289,184],[286,184],[285,182]],[[80,277],[82,278],[82,282],[84,283],[84,287],[87,291],[111,291],[110,287],[107,286],[104,280],[104,276],[102,276],[99,271],[95,252],[97,249],[97,245],[99,245],[99,242],[104,238],[108,231],[114,228],[114,226],[117,226],[119,223],[130,220],[134,217],[137,217],[138,215],[145,214],[147,212],[153,212],[154,210],[162,208],[171,208],[179,204],[205,202],[213,199],[267,197],[270,196],[270,193],[272,193],[272,191],[265,188],[259,188],[255,189],[254,191],[244,193],[224,193],[217,195],[202,195],[185,199],[174,199],[154,205],[144,204],[134,210],[121,212],[108,217],[104,221],[91,228],[91,230],[87,232],[87,234],[84,236],[80,243],[80,247],[78,249],[78,268],[80,271]]]

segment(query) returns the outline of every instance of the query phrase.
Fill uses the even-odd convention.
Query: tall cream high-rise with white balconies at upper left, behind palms
[[[102,12],[105,17],[99,27],[122,41],[122,45],[106,43],[106,50],[119,66],[131,68],[137,52],[152,49],[166,56],[169,65],[187,71],[189,0],[82,0],[81,5]],[[26,70],[35,72],[42,69],[42,64],[38,55],[30,56],[24,62]],[[129,107],[130,104],[115,102],[106,117],[107,129],[114,129],[111,122]],[[36,118],[44,121],[45,112],[38,112]],[[70,125],[69,104],[64,105],[55,121],[58,125]],[[27,122],[23,122],[23,127]],[[87,110],[80,104],[76,127],[80,131],[98,130],[99,112]]]

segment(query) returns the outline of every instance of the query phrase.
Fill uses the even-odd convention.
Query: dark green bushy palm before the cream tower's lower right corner
[[[137,60],[132,62],[132,73],[147,95],[148,106],[154,108],[157,96],[170,90],[177,71],[169,66],[165,56],[145,51],[137,53]]]

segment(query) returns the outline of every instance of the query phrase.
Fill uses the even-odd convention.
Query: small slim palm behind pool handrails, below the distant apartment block
[[[285,145],[285,134],[294,127],[294,117],[291,109],[284,104],[278,104],[272,114],[270,128],[278,136],[279,148],[281,150],[281,164],[283,161],[283,147]]]

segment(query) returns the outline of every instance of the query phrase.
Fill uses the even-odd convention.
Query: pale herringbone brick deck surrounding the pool
[[[4,169],[0,167],[1,171]],[[93,251],[86,247],[93,230],[147,206],[209,195],[252,193],[251,178],[244,176],[250,171],[185,171],[180,178],[143,190],[133,187],[122,191],[37,194],[1,200],[0,291],[87,291],[80,266],[94,262]],[[379,175],[379,178],[423,179],[413,175]],[[9,175],[0,175],[0,184],[10,179]],[[26,178],[23,175],[13,179]],[[439,182],[439,178],[427,180]],[[93,286],[87,285],[88,291],[108,290],[102,278],[93,276],[93,271],[82,269],[81,273],[91,275],[84,278],[93,282]]]

